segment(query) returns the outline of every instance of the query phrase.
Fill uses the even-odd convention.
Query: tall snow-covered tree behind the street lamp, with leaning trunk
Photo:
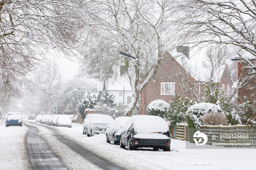
[[[116,77],[120,66],[125,66],[133,95],[124,115],[131,116],[138,101],[138,62],[118,53],[140,61],[141,75],[146,75],[139,89],[142,90],[158,69],[171,40],[167,34],[171,30],[167,24],[171,16],[169,1],[103,0],[94,5],[98,11],[92,17],[98,31],[91,34],[85,61],[102,80]]]

